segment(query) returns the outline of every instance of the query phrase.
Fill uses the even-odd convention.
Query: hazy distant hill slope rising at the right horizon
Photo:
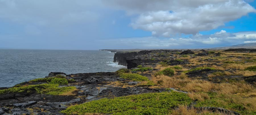
[[[234,49],[234,48],[256,49],[256,43],[244,43],[244,44],[232,45],[228,47],[214,47],[214,48],[204,48],[204,49]]]

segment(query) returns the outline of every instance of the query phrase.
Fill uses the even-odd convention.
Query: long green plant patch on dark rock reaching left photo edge
[[[12,87],[9,89],[0,90],[0,94],[5,93],[40,93],[49,95],[60,95],[62,93],[68,92],[70,90],[76,89],[76,87],[59,87],[58,84],[39,84],[39,85],[28,85],[21,87]]]

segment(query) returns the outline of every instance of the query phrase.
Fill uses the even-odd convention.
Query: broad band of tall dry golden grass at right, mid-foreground
[[[254,91],[253,86],[246,83],[212,83],[205,80],[177,79],[164,75],[156,76],[152,80],[156,83],[161,81],[159,84],[161,87],[179,88],[188,92],[214,91],[220,94],[235,94]]]

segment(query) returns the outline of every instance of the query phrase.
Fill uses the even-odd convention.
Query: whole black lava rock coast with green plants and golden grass
[[[253,66],[256,64],[255,49],[108,51],[116,52],[113,62],[127,66],[127,69],[117,72],[78,74],[51,72],[45,78],[23,82],[10,88],[1,87],[0,115],[138,112],[175,114],[180,112],[181,105],[186,105],[185,109],[188,111],[194,109],[197,113],[204,111],[220,114],[256,113],[255,103],[246,101],[246,99],[256,101],[254,95],[256,67]],[[209,86],[205,87],[206,85]],[[235,86],[238,86],[237,89]],[[229,87],[234,89],[225,89]],[[144,95],[146,98],[147,94],[151,95],[150,99],[156,100],[150,101],[152,105],[147,107],[139,105],[136,107],[136,103],[133,103],[130,105],[133,106],[131,108],[121,110],[118,106],[125,108],[126,105],[115,107],[112,105],[113,110],[110,110],[105,108],[109,106],[108,104],[102,105],[106,99],[109,99],[107,101],[110,103],[128,96],[127,99],[131,98],[133,102],[139,97],[129,96],[138,95],[143,98]],[[161,96],[166,95],[176,95],[179,99],[168,97],[167,99],[172,100],[165,103],[163,100],[166,98]],[[223,98],[230,98],[232,101],[225,101],[226,104],[223,104],[224,102],[221,102]],[[236,100],[240,98],[244,101]],[[137,100],[137,103],[144,103],[142,100]],[[86,108],[89,106],[86,103],[89,102],[92,105]],[[102,105],[102,111],[101,108],[95,110],[96,106],[93,106],[93,103],[97,103],[97,107]],[[76,110],[79,107],[84,109]]]

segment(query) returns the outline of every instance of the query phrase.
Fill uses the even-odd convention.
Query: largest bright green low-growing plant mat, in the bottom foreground
[[[64,114],[170,114],[173,108],[192,101],[185,93],[162,92],[145,93],[116,97],[114,99],[100,99],[80,105],[70,106],[61,111]]]

